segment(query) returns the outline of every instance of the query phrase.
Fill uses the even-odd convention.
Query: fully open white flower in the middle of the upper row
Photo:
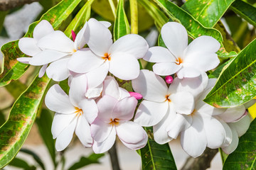
[[[144,57],[149,46],[139,35],[129,34],[112,42],[112,34],[102,23],[91,18],[88,21],[90,37],[85,50],[75,52],[68,68],[77,73],[93,72],[98,84],[104,81],[110,71],[124,80],[139,75],[139,58]],[[90,79],[88,79],[90,81]]]

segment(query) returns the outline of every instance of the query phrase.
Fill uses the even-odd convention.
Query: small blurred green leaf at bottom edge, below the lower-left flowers
[[[89,164],[100,164],[99,159],[103,157],[105,154],[90,154],[89,157],[81,157],[79,162],[76,162],[68,170],[80,169],[83,166],[87,166]]]

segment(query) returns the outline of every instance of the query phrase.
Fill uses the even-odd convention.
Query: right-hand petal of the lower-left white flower
[[[82,108],[83,115],[85,116],[88,123],[92,123],[97,117],[98,108],[95,100],[93,99],[83,99],[79,103],[79,108]]]

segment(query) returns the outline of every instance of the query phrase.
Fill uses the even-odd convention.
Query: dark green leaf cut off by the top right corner
[[[235,0],[230,8],[252,26],[256,27],[256,8],[241,0]]]

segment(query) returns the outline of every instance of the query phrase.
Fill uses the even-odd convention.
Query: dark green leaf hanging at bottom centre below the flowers
[[[153,129],[144,128],[149,136],[146,146],[139,149],[142,157],[142,170],[177,169],[168,143],[159,145],[153,139]]]

